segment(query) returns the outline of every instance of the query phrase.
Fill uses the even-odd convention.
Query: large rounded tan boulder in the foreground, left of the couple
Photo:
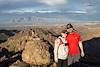
[[[51,62],[50,46],[43,40],[27,42],[22,53],[22,60],[32,65],[48,65]]]

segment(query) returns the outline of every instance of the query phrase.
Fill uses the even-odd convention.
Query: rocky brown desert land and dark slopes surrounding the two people
[[[100,24],[73,24],[80,33],[85,57],[70,67],[100,67]],[[66,24],[2,28],[0,67],[56,67],[54,40]]]

